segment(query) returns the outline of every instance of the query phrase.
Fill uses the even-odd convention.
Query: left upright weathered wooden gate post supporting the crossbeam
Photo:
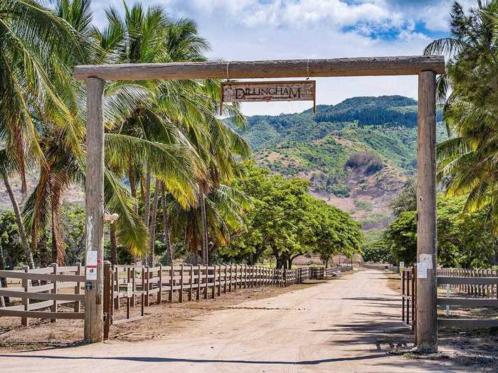
[[[103,232],[104,232],[104,124],[102,99],[104,82],[87,79],[87,173],[85,179],[86,251],[97,252],[97,280],[85,291],[85,340],[102,342],[103,323]]]

